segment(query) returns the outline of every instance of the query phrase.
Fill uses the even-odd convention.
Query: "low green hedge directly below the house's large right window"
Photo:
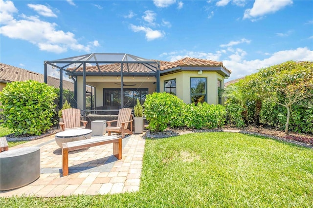
[[[223,105],[207,103],[188,104],[186,125],[189,128],[220,128],[225,124],[226,110]]]

